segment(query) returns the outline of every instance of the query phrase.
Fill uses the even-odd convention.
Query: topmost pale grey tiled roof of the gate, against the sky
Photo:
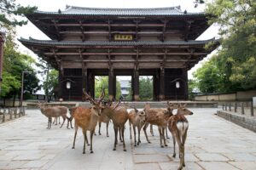
[[[83,8],[67,6],[64,11],[45,12],[36,11],[36,14],[56,15],[112,15],[112,16],[180,16],[180,15],[204,15],[204,13],[184,13],[180,7],[169,8]]]

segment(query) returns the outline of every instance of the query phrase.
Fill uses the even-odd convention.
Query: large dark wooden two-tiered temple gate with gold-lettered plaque
[[[26,17],[51,40],[20,42],[59,71],[64,99],[81,100],[82,88],[94,96],[96,76],[108,76],[109,99],[116,94],[116,76],[132,77],[134,100],[139,100],[139,76],[154,77],[154,100],[188,99],[187,71],[218,45],[214,39],[195,40],[208,28],[206,14],[179,7],[67,6]],[[204,48],[207,42],[212,48]]]

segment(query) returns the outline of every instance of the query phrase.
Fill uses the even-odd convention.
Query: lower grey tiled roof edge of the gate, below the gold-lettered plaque
[[[150,46],[150,45],[204,45],[207,42],[218,42],[214,38],[204,41],[196,41],[196,40],[189,40],[186,41],[139,41],[139,42],[132,42],[132,41],[113,41],[113,42],[102,42],[102,41],[55,41],[55,40],[37,40],[37,39],[25,39],[20,37],[19,39],[22,43],[29,43],[34,45],[45,45],[45,46]]]

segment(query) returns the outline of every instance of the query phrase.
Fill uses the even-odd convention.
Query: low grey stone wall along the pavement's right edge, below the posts
[[[256,117],[239,115],[231,112],[217,111],[217,115],[226,119],[227,121],[234,122],[241,127],[245,127],[256,133]]]

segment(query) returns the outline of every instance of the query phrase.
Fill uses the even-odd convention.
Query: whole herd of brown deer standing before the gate
[[[84,94],[87,99],[90,101],[90,108],[85,108],[82,106],[76,105],[69,109],[70,117],[67,116],[67,107],[65,106],[47,106],[42,103],[38,104],[41,112],[48,117],[48,127],[51,127],[52,124],[52,117],[55,117],[55,121],[57,122],[57,117],[62,117],[63,122],[61,127],[63,126],[64,122],[67,119],[67,128],[69,126],[69,122],[71,123],[74,118],[74,139],[73,139],[73,149],[75,148],[75,140],[77,136],[77,131],[79,127],[82,128],[84,134],[84,148],[83,154],[85,153],[85,144],[90,145],[90,153],[93,153],[92,150],[92,139],[95,133],[96,124],[99,122],[99,134],[101,134],[101,123],[105,122],[107,124],[107,137],[108,137],[108,123],[110,120],[113,122],[113,129],[114,129],[114,144],[113,150],[116,150],[116,144],[118,143],[118,133],[119,139],[123,143],[123,150],[125,149],[125,122],[129,119],[130,124],[130,138],[131,138],[131,127],[133,128],[134,133],[134,146],[137,146],[141,143],[140,139],[140,132],[143,128],[145,133],[146,139],[148,143],[148,134],[147,134],[147,127],[148,125],[156,125],[158,126],[158,130],[160,133],[160,146],[164,147],[167,146],[165,133],[166,129],[168,128],[172,133],[173,139],[173,157],[176,156],[175,151],[175,144],[177,142],[178,149],[179,149],[179,158],[180,158],[180,165],[178,169],[182,169],[185,167],[184,163],[184,144],[187,138],[187,131],[189,128],[189,122],[185,116],[192,115],[193,112],[189,111],[185,108],[185,105],[177,105],[177,104],[170,104],[167,102],[166,109],[156,109],[150,108],[150,105],[146,104],[143,111],[138,111],[136,108],[128,113],[127,105],[120,105],[120,101],[113,105],[112,102],[102,102],[104,98],[104,90],[100,96],[100,99],[96,101],[92,99],[89,94],[84,91]],[[177,109],[177,114],[173,115],[172,111]],[[72,124],[71,124],[72,127]],[[137,128],[137,129],[136,129]],[[90,131],[90,144],[87,139],[86,132]],[[136,132],[138,135],[136,135]],[[152,129],[151,129],[151,132]],[[137,136],[137,137],[136,137]],[[163,144],[164,143],[164,144]]]

